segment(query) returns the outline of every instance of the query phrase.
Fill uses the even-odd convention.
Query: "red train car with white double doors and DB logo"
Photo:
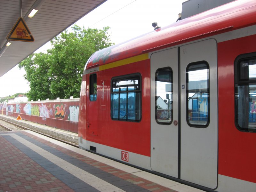
[[[205,191],[256,191],[256,1],[95,52],[79,147]]]

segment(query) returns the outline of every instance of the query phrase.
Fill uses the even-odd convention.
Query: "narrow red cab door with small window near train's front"
[[[88,74],[89,99],[87,100],[87,129],[89,134],[98,135],[98,100],[97,98],[97,74]]]

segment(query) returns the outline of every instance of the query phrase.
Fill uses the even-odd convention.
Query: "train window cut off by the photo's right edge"
[[[256,132],[256,54],[235,60],[235,124],[240,131]]]

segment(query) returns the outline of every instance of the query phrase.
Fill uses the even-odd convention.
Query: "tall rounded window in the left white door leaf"
[[[158,124],[172,123],[172,69],[157,69],[156,86],[156,122]]]

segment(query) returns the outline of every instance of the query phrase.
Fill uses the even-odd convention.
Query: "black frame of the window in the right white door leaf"
[[[188,112],[188,93],[191,91],[191,90],[193,90],[193,89],[191,89],[191,90],[189,90],[188,89],[188,68],[189,67],[191,67],[191,66],[193,66],[193,65],[201,65],[201,64],[205,64],[206,65],[206,69],[208,70],[208,77],[207,77],[207,92],[208,92],[208,96],[207,96],[207,119],[208,119],[208,121],[207,121],[207,123],[206,124],[204,124],[204,125],[200,125],[200,124],[191,124],[190,122],[189,122],[189,112]],[[199,91],[199,90],[197,90],[197,89],[195,89],[195,90],[193,90],[193,91]],[[209,63],[207,62],[207,61],[205,61],[205,60],[202,60],[202,61],[196,61],[196,62],[192,62],[192,63],[189,63],[188,64],[188,66],[186,67],[186,121],[187,121],[187,124],[188,124],[188,126],[190,126],[190,127],[196,127],[196,128],[206,128],[206,127],[208,127],[208,125],[210,124],[210,113],[211,111],[210,111],[210,66],[209,66]],[[197,118],[200,118],[200,116],[199,117],[197,117]]]

